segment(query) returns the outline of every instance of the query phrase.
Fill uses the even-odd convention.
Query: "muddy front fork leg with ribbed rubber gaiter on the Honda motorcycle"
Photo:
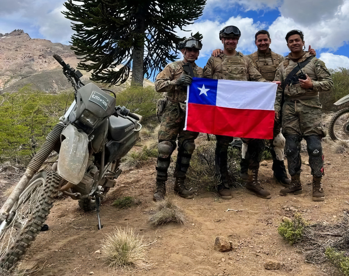
[[[27,170],[23,174],[20,181],[18,181],[13,192],[7,198],[0,209],[0,221],[2,222],[8,217],[8,212],[13,207],[13,204],[18,200],[21,193],[27,187],[30,179],[38,172],[44,161],[49,157],[55,144],[60,140],[60,135],[65,125],[61,122],[53,127],[51,132],[47,135],[45,143],[40,147],[39,151],[31,159]]]

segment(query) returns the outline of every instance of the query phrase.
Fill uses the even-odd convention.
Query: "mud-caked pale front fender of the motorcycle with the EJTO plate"
[[[61,133],[61,141],[57,172],[69,182],[79,184],[89,157],[88,136],[69,124]]]

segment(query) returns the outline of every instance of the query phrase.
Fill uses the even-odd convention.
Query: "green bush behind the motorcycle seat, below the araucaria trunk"
[[[131,112],[143,116],[144,119],[155,115],[156,101],[162,96],[154,87],[132,85],[116,94],[116,104],[126,106]]]

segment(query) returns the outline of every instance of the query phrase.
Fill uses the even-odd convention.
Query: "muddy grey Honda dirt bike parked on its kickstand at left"
[[[12,267],[25,253],[47,219],[59,192],[78,200],[84,211],[96,210],[120,173],[120,159],[139,138],[141,116],[116,107],[115,93],[93,83],[84,85],[79,70],[59,57],[72,83],[75,100],[0,210],[0,267]],[[113,94],[113,96],[111,96]],[[51,152],[58,159],[51,170],[40,169]]]

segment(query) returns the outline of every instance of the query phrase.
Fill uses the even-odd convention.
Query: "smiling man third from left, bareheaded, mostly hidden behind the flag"
[[[252,59],[252,62],[258,71],[261,73],[262,77],[267,81],[273,81],[275,78],[276,68],[283,61],[283,56],[274,53],[270,50],[270,34],[266,30],[258,31],[254,36],[254,43],[257,46],[257,51],[247,55],[247,57]],[[220,49],[213,51],[213,55],[217,56],[220,53]],[[314,49],[309,46],[310,54],[316,55]],[[284,165],[284,146],[285,138],[281,133],[281,122],[280,120],[275,120],[274,122],[274,133],[273,139],[270,142],[270,154],[273,157],[272,170],[274,171],[274,177],[281,185],[287,187],[291,179],[287,176],[287,172]],[[247,149],[246,144],[243,144],[243,158],[240,162],[240,178],[246,180],[248,177],[248,160],[246,160],[245,152]]]

